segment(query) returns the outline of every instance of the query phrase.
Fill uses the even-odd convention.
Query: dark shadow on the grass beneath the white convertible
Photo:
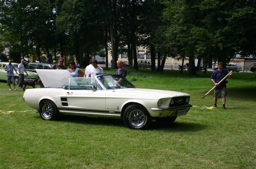
[[[40,118],[40,117],[38,117]],[[122,119],[116,118],[94,118],[86,116],[71,116],[71,115],[61,115],[58,119],[59,122],[68,122],[68,123],[79,123],[79,124],[91,124],[91,125],[100,125],[100,126],[115,126],[127,128]],[[198,131],[204,130],[207,126],[197,123],[188,123],[188,122],[174,122],[171,124],[157,123],[152,121],[148,130],[164,130],[169,132],[180,132],[180,131]]]

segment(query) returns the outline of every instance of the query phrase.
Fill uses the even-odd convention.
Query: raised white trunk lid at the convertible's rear
[[[67,70],[35,69],[45,88],[63,85],[72,78]]]

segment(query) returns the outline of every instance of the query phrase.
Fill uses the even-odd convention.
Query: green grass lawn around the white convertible
[[[114,71],[107,71],[113,73]],[[122,120],[64,116],[42,120],[23,102],[23,91],[0,81],[0,168],[255,168],[256,78],[233,73],[226,110],[213,106],[212,72],[128,70],[138,88],[181,91],[193,107],[169,125],[128,129]],[[1,113],[1,112],[0,112]]]

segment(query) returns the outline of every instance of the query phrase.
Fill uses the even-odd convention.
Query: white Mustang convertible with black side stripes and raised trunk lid
[[[60,114],[116,117],[129,128],[146,129],[152,120],[172,123],[192,107],[186,93],[136,88],[120,75],[72,78],[67,70],[36,72],[46,88],[27,89],[23,99],[44,120]]]

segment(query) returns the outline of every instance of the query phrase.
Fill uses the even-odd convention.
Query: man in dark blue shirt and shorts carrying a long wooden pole
[[[211,76],[211,81],[216,86],[214,88],[214,106],[217,107],[217,100],[218,98],[222,97],[222,109],[226,109],[225,104],[226,104],[226,96],[227,96],[227,86],[226,86],[226,79],[222,81],[220,84],[218,84],[226,75],[228,74],[228,71],[226,69],[223,69],[223,63],[219,62],[218,63],[218,69],[215,70],[212,73]],[[232,75],[229,74],[228,78]]]

